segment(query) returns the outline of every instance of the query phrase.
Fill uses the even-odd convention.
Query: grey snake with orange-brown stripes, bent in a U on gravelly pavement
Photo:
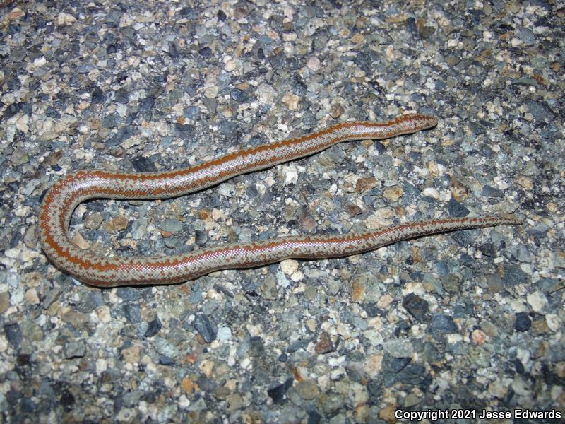
[[[96,287],[182,283],[222,269],[246,269],[284,259],[327,259],[369,252],[424,235],[496,225],[519,225],[513,215],[449,217],[398,223],[345,234],[290,235],[232,242],[170,256],[102,256],[73,243],[71,216],[89,199],[169,199],[201,191],[244,173],[313,155],[343,141],[388,139],[436,126],[436,117],[405,114],[387,122],[341,122],[311,134],[242,148],[178,170],[78,170],[42,194],[40,246],[58,269]]]

